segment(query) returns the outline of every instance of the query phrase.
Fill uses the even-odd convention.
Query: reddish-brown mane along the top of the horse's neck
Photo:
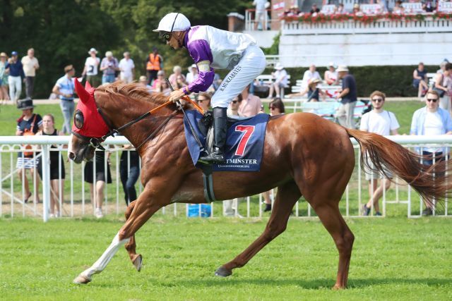
[[[148,87],[144,87],[137,82],[126,84],[125,82],[118,80],[111,84],[97,87],[96,90],[104,91],[109,94],[121,94],[125,97],[143,100],[145,102],[153,102],[154,104],[164,104],[168,100],[168,97],[162,93],[151,93],[148,90]]]

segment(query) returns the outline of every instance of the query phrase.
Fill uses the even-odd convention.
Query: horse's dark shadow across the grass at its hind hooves
[[[173,281],[170,285],[198,285],[198,286],[222,286],[225,285],[234,286],[240,284],[248,285],[262,285],[262,286],[299,286],[299,288],[312,290],[312,289],[323,289],[331,288],[334,285],[334,281],[331,279],[320,278],[320,279],[297,279],[297,278],[281,278],[281,279],[239,279],[239,278],[221,278],[215,279],[196,279],[196,280],[184,280],[179,279]],[[439,285],[452,285],[452,279],[443,278],[350,278],[348,280],[347,288],[367,288],[371,285],[385,285],[385,284],[423,284],[428,286],[439,286]],[[160,283],[165,286],[165,283]]]

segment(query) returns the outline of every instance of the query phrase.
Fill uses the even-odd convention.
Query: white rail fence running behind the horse
[[[66,180],[64,180],[64,190],[60,190],[57,195],[61,206],[62,217],[80,217],[92,216],[95,209],[96,199],[90,199],[90,190],[88,183],[85,183],[83,168],[85,163],[74,164],[73,161],[67,159],[67,145],[69,143],[69,136],[1,136],[0,137],[0,217],[13,218],[15,216],[36,216],[42,217],[44,221],[49,219],[49,199],[52,189],[49,185],[49,164],[42,164],[42,175],[44,180],[40,180],[37,173],[34,173],[32,179],[28,178],[30,182],[30,191],[33,193],[29,202],[25,203],[25,187],[24,176],[19,179],[17,174],[20,168],[16,168],[16,161],[18,160],[18,153],[21,152],[23,145],[32,145],[33,148],[28,152],[33,152],[35,159],[40,159],[43,162],[49,162],[50,152],[59,152],[62,163],[66,169]],[[410,149],[415,147],[451,147],[452,135],[441,136],[410,136],[399,135],[389,136],[391,140],[404,145]],[[362,216],[362,205],[367,203],[369,199],[368,183],[364,180],[364,172],[359,161],[361,155],[360,149],[355,139],[351,139],[355,147],[355,171],[352,174],[347,189],[340,202],[340,211],[343,216],[360,217]],[[119,177],[119,157],[121,152],[129,152],[130,149],[124,149],[124,145],[128,145],[129,141],[125,137],[109,137],[104,143],[108,152],[111,152],[109,161],[105,159],[105,167],[109,165],[112,171],[112,183],[105,185],[105,199],[104,199],[104,214],[123,214],[126,209],[126,202],[124,201],[124,192]],[[52,145],[56,146],[51,147]],[[448,158],[446,158],[448,159]],[[130,166],[128,162],[128,166]],[[128,167],[129,168],[129,167]],[[95,173],[95,169],[93,170]],[[61,170],[59,171],[61,174]],[[29,175],[28,175],[29,176]],[[59,180],[61,181],[61,180]],[[408,217],[421,216],[424,204],[419,195],[410,188],[409,185],[403,183],[403,180],[395,179],[396,184],[393,185],[388,192],[383,193],[380,201],[381,214],[386,216],[387,204],[401,204],[403,209],[399,207],[391,207],[393,210],[403,210]],[[36,190],[35,183],[40,183],[38,190]],[[60,182],[61,183],[61,182]],[[137,194],[141,192],[140,179],[136,183]],[[272,200],[276,189],[271,192]],[[33,202],[38,198],[40,202]],[[268,213],[263,212],[265,204],[263,204],[262,195],[254,195],[241,199],[234,199],[231,202],[215,202],[210,204],[210,216],[218,217],[225,213],[225,205],[233,210],[233,215],[237,217],[263,217],[268,216]],[[203,211],[205,216],[205,208],[197,205],[200,211]],[[191,211],[190,211],[191,210]],[[173,216],[193,216],[190,214],[193,207],[188,204],[170,204],[162,208],[157,214],[171,214]],[[374,214],[374,209],[371,211],[371,216]],[[436,216],[451,216],[451,210],[448,204],[438,206],[434,210]],[[313,209],[307,204],[306,200],[299,199],[293,211],[294,217],[315,217],[316,214]]]

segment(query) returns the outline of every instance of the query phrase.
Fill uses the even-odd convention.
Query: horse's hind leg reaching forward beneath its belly
[[[268,242],[275,239],[285,231],[292,208],[301,196],[294,182],[286,183],[278,187],[275,204],[268,220],[265,231],[249,247],[227,264],[223,264],[215,271],[216,276],[230,276],[232,269],[244,266],[256,255]]]

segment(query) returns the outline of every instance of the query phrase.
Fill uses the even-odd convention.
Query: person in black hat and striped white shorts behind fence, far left
[[[33,113],[33,101],[30,98],[23,99],[18,102],[18,109],[22,110],[22,116],[17,120],[17,128],[16,128],[16,136],[28,136],[35,135],[38,130],[42,130],[42,118],[39,114]],[[30,145],[25,145],[23,147],[24,150],[31,149]],[[34,156],[35,155],[35,156]],[[28,178],[26,171],[30,171],[30,176],[33,179],[33,182],[36,183],[33,185],[35,188],[35,202],[39,202],[39,197],[37,192],[39,191],[39,183],[37,182],[37,177],[35,177],[35,168],[37,161],[35,153],[30,152],[19,152],[18,159],[16,164],[16,169],[18,170],[19,180],[23,179],[23,188],[25,190],[25,198],[23,202],[28,202],[28,199],[31,197],[30,185],[28,184]]]

